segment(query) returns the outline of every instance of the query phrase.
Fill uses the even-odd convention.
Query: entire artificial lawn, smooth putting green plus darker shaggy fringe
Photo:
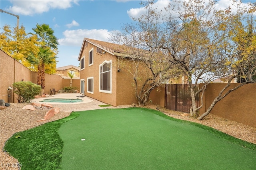
[[[144,108],[72,112],[14,134],[4,150],[22,170],[256,167],[255,144]]]

